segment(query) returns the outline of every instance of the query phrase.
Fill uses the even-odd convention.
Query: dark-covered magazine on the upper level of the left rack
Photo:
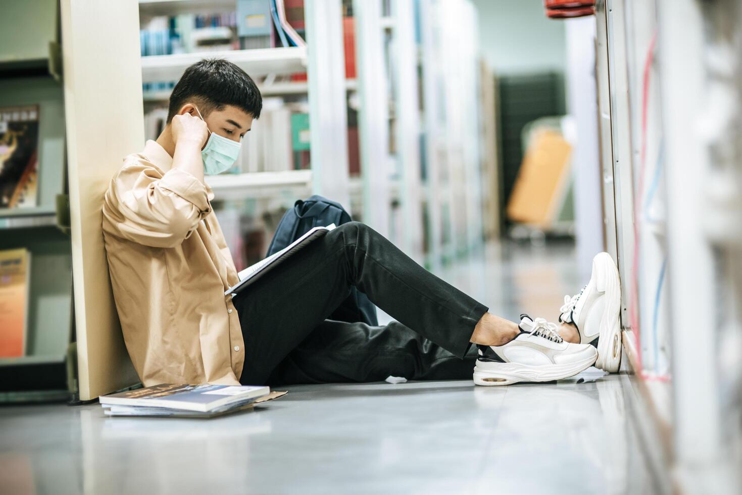
[[[37,205],[39,105],[0,108],[0,209]]]

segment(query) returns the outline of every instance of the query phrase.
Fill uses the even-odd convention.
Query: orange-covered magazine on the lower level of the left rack
[[[27,249],[0,251],[0,358],[26,353],[30,260]]]

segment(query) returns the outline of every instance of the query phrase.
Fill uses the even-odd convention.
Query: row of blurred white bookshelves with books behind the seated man
[[[262,11],[260,3],[252,4],[255,15],[269,13],[270,2],[262,2]],[[220,219],[240,229],[230,246],[238,268],[257,256],[240,254],[244,246],[253,246],[257,238],[263,243],[260,249],[267,248],[283,212],[312,193],[340,200],[354,219],[387,235],[429,269],[481,251],[482,129],[462,127],[441,114],[443,107],[449,112],[456,108],[459,114],[453,117],[461,122],[464,112],[482,112],[476,98],[479,58],[470,2],[445,7],[427,0],[298,0],[286,1],[285,8],[304,39],[314,34],[315,43],[324,45],[282,47],[273,27],[243,30],[236,20],[246,13],[240,1],[139,2],[148,139],[157,137],[165,123],[174,82],[197,59],[231,60],[255,79],[263,94],[263,114],[244,138],[232,174],[208,179]],[[465,22],[439,33],[444,16],[459,11],[468,16]],[[332,29],[326,27],[328,15],[335,17]],[[312,19],[318,16],[322,32],[312,33]],[[203,50],[209,33],[214,38]],[[444,39],[425,45],[422,36]],[[462,39],[469,47],[463,59]],[[443,50],[447,43],[453,48]],[[376,62],[356,66],[357,59]],[[312,67],[322,69],[312,73]],[[332,77],[332,67],[340,68],[344,77],[324,82]],[[445,79],[461,68],[467,70],[455,83],[464,87],[448,88],[441,101]],[[426,88],[429,94],[424,95]],[[474,96],[467,99],[467,91]],[[312,115],[311,108],[327,115]],[[332,134],[323,129],[323,137],[313,135],[311,122],[329,125]],[[459,137],[456,142],[452,129],[458,132],[453,133]],[[467,133],[473,137],[464,143]],[[333,135],[334,146],[326,143],[327,135]],[[462,152],[464,144],[476,151]],[[434,159],[428,160],[431,154]],[[428,168],[439,175],[432,187]],[[465,207],[453,205],[449,177],[454,177],[455,199]]]

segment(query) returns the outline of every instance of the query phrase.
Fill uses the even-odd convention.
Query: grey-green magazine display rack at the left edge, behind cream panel
[[[59,46],[54,0],[11,2],[0,19],[0,107],[38,105],[36,206],[0,209],[0,250],[30,252],[25,353],[0,358],[0,401],[68,395],[65,361],[73,332],[70,237],[57,228],[57,197],[65,194],[65,102],[50,73],[50,45]],[[25,19],[24,29],[12,22]]]

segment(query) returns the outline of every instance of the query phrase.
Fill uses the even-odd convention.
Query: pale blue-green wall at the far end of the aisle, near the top
[[[565,22],[548,19],[542,0],[472,0],[479,10],[479,47],[496,74],[566,65]]]

